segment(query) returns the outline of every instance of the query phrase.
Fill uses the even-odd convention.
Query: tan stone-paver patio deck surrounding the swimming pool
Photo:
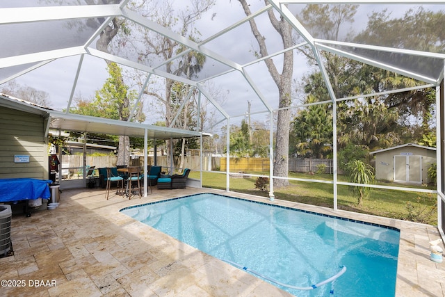
[[[0,259],[0,270],[2,280],[24,280],[24,286],[2,287],[2,295],[291,296],[118,212],[130,205],[209,191],[225,193],[154,188],[146,198],[111,195],[105,200],[104,190],[81,188],[63,191],[55,210],[34,211],[30,218],[14,215],[14,255]],[[400,228],[396,296],[444,296],[445,264],[430,260],[428,244],[440,237],[437,228],[282,200],[271,203]]]

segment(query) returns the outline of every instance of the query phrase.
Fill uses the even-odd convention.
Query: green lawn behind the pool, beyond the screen
[[[254,174],[261,174],[261,172],[255,172]],[[200,172],[192,171],[189,177],[200,179]],[[309,176],[291,172],[289,177],[332,181],[332,175],[317,174]],[[338,179],[339,181],[347,181],[347,178],[341,175],[339,175]],[[259,189],[255,188],[256,180],[257,177],[231,177],[230,190],[268,197],[267,191],[259,191]],[[379,184],[389,185],[387,183]],[[395,184],[391,185],[394,186]],[[226,176],[225,174],[202,172],[202,186],[225,190]],[[432,189],[432,187],[428,188]],[[275,198],[277,199],[330,208],[334,207],[332,193],[332,184],[318,182],[290,181],[289,186],[274,188]],[[357,197],[353,195],[348,186],[337,186],[337,205],[339,209],[437,225],[437,198],[435,194],[373,188],[370,198],[363,200],[362,207],[358,207],[357,202]]]

